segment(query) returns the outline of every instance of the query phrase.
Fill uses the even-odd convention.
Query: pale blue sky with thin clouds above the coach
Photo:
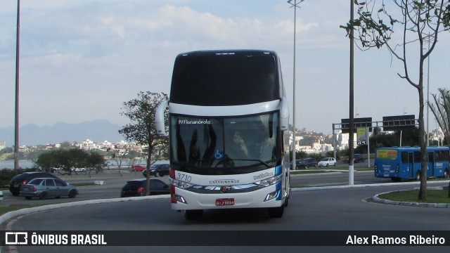
[[[124,126],[123,102],[139,91],[169,93],[179,53],[248,48],[280,56],[291,115],[295,72],[296,128],[332,134],[349,118],[349,39],[340,25],[351,2],[299,4],[294,71],[294,9],[284,0],[22,0],[20,126],[95,119]],[[0,1],[0,127],[14,126],[16,19],[17,1]],[[439,36],[430,93],[449,87],[450,36]],[[417,118],[418,91],[397,75],[399,61],[386,48],[354,52],[354,117]]]

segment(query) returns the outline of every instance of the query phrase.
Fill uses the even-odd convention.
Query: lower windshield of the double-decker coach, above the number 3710
[[[171,160],[182,167],[221,171],[274,167],[281,154],[277,126],[278,112],[248,117],[171,115]]]

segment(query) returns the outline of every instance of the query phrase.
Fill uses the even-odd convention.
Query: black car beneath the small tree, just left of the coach
[[[146,193],[146,179],[134,179],[127,181],[122,190],[120,197],[139,197]],[[160,179],[150,179],[150,195],[170,194],[167,183]]]

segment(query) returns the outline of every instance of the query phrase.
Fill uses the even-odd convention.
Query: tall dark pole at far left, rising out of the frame
[[[17,34],[15,40],[15,123],[14,169],[19,169],[19,48],[20,48],[20,0],[17,0]]]

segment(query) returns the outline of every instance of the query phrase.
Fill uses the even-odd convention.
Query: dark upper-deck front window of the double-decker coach
[[[169,102],[248,105],[279,100],[283,92],[279,60],[274,51],[192,51],[176,57]]]

